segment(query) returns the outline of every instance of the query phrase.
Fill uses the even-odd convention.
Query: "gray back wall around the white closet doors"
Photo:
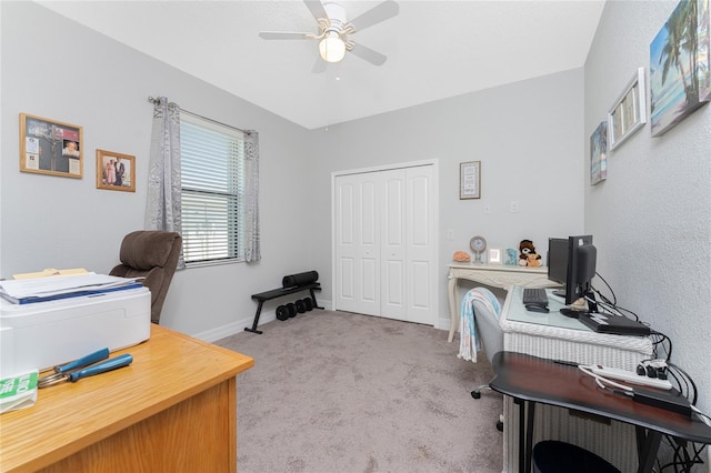
[[[439,161],[439,314],[449,328],[447,266],[469,239],[518,248],[531,239],[545,254],[549,236],[582,231],[582,70],[527,80],[384,113],[319,131],[309,165],[317,215],[330,212],[333,171]],[[334,152],[336,150],[336,152]],[[578,158],[577,158],[578,157]],[[481,161],[481,199],[459,200],[459,163]],[[510,202],[519,212],[510,212]],[[484,207],[491,212],[484,213]],[[318,248],[330,245],[330,220],[316,222]],[[453,230],[454,239],[447,240]],[[314,253],[330,269],[331,254]],[[465,284],[464,284],[465,285]]]

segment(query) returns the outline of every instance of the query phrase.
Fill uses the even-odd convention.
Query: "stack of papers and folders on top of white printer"
[[[140,288],[139,278],[108,274],[58,275],[52,278],[0,281],[0,296],[16,304],[53,301]]]

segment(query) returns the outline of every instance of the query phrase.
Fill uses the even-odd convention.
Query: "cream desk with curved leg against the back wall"
[[[459,280],[479,282],[491,288],[509,289],[512,285],[524,288],[552,288],[559,284],[548,279],[548,268],[507,266],[502,264],[452,263],[449,268],[449,338],[451,342],[459,328],[459,303],[457,292]]]

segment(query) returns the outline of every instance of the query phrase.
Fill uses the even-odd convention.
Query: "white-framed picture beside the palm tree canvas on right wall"
[[[647,123],[644,68],[639,68],[608,113],[610,150],[614,150]]]

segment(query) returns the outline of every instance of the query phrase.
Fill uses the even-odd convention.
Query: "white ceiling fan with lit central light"
[[[346,9],[336,2],[303,0],[319,26],[318,33],[282,31],[262,31],[259,36],[267,40],[319,40],[319,56],[312,72],[326,70],[327,62],[339,62],[349,51],[374,64],[382,66],[388,59],[384,54],[351,41],[348,37],[357,31],[380,23],[398,14],[400,7],[393,0],[385,0],[351,21],[347,21]]]

